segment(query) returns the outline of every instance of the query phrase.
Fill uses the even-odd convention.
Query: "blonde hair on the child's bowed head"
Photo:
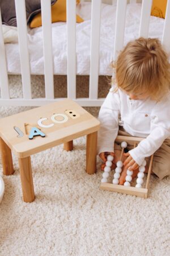
[[[148,93],[159,101],[170,89],[170,64],[158,39],[139,38],[129,42],[118,55],[117,88],[133,94]]]

